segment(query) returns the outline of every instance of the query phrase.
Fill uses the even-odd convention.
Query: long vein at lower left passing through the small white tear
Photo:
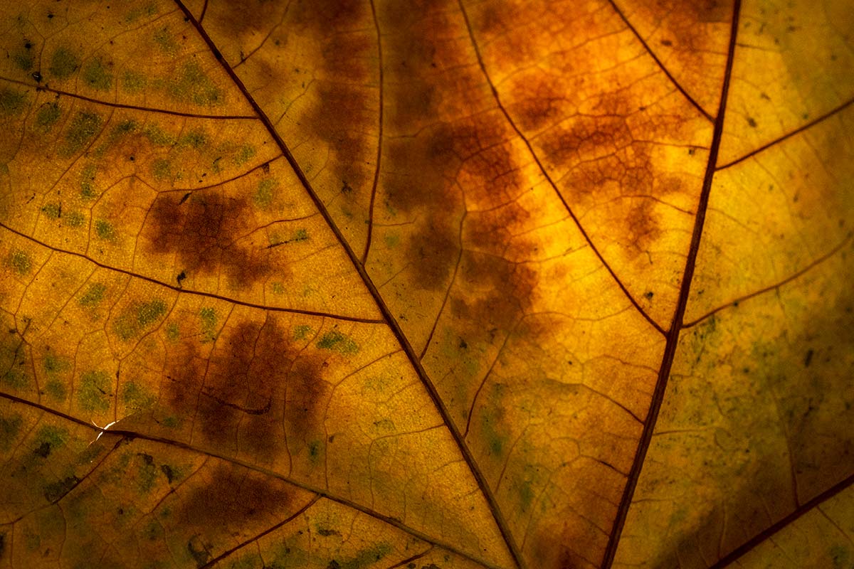
[[[300,488],[301,490],[308,491],[308,492],[313,492],[314,494],[317,494],[318,496],[324,497],[324,498],[326,498],[332,502],[339,503],[346,508],[352,508],[352,509],[356,510],[357,512],[361,512],[362,514],[366,514],[368,516],[371,516],[371,518],[383,521],[386,524],[392,525],[401,531],[405,531],[406,533],[408,533],[412,537],[416,537],[416,538],[420,539],[424,543],[430,543],[430,545],[436,545],[438,547],[441,547],[442,549],[447,549],[448,551],[450,551],[453,554],[459,555],[460,557],[463,557],[466,560],[470,560],[470,561],[473,561],[475,563],[479,563],[482,566],[488,567],[488,569],[499,569],[499,567],[491,565],[487,561],[479,560],[476,557],[473,557],[471,554],[468,554],[465,551],[457,549],[455,546],[453,546],[452,543],[437,542],[434,537],[425,535],[421,531],[412,529],[408,525],[403,524],[401,522],[401,520],[389,517],[389,516],[384,515],[384,514],[380,514],[379,512],[376,512],[376,511],[372,510],[371,508],[367,508],[366,506],[363,506],[360,503],[351,502],[350,500],[348,500],[348,498],[345,498],[342,496],[332,495],[332,494],[328,493],[328,491],[326,491],[322,488],[315,488],[312,485],[304,484],[300,480],[291,479],[291,478],[285,476],[284,474],[280,474],[280,473],[274,472],[272,470],[267,470],[264,467],[259,467],[255,464],[252,464],[251,462],[246,462],[246,461],[243,461],[239,458],[235,458],[233,456],[226,456],[225,454],[222,454],[216,450],[202,450],[202,449],[200,449],[200,448],[198,448],[192,444],[182,443],[178,440],[174,440],[173,438],[155,437],[154,435],[139,433],[137,431],[131,431],[128,429],[119,429],[119,428],[107,429],[107,428],[98,427],[97,425],[94,425],[91,422],[83,421],[82,419],[79,419],[73,415],[68,415],[67,413],[63,413],[62,411],[58,411],[56,409],[51,409],[50,407],[47,407],[46,405],[36,403],[34,401],[29,401],[28,399],[19,398],[19,397],[16,397],[15,395],[10,395],[9,393],[0,392],[0,399],[6,399],[6,400],[11,401],[11,402],[16,403],[16,404],[26,405],[27,407],[32,407],[33,409],[38,409],[40,411],[43,411],[44,413],[49,413],[50,415],[54,415],[56,417],[60,417],[61,419],[64,419],[64,420],[69,421],[71,423],[74,423],[75,425],[80,425],[81,427],[90,428],[92,431],[97,431],[97,433],[104,433],[106,435],[115,435],[118,437],[124,437],[126,440],[129,440],[129,441],[133,440],[134,438],[138,438],[140,440],[147,440],[147,441],[150,441],[150,442],[156,443],[156,444],[164,444],[166,446],[171,446],[171,447],[174,447],[176,449],[190,450],[190,452],[195,452],[196,454],[199,454],[202,456],[210,456],[210,457],[215,458],[217,460],[233,464],[237,467],[246,468],[247,470],[252,471],[254,473],[260,473],[260,474],[263,474],[265,476],[269,476],[269,477],[274,478],[274,479],[282,480],[283,482],[286,482],[292,486],[295,486],[296,488]]]

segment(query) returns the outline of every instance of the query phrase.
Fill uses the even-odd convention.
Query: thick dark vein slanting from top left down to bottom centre
[[[255,101],[254,97],[249,94],[249,90],[246,89],[246,85],[243,84],[243,81],[239,77],[237,77],[237,73],[234,72],[234,69],[225,61],[225,58],[217,49],[216,44],[213,43],[213,40],[208,36],[208,32],[196,21],[196,18],[192,15],[189,9],[184,6],[182,0],[174,0],[178,5],[178,8],[184,12],[185,19],[190,22],[190,25],[196,28],[196,32],[198,32],[199,36],[204,40],[206,44],[208,44],[208,49],[211,50],[213,56],[219,61],[225,73],[231,77],[231,80],[237,86],[246,101],[249,102],[249,105],[254,109],[254,112],[258,115],[258,119],[260,119],[261,123],[266,127],[266,130],[272,136],[272,139],[276,141],[278,148],[282,151],[285,158],[288,159],[290,163],[290,167],[294,170],[296,177],[299,178],[302,186],[305,188],[306,193],[309,198],[314,202],[314,205],[318,208],[318,211],[325,219],[326,224],[329,226],[332,233],[336,236],[338,243],[341,245],[342,249],[347,253],[348,258],[350,258],[350,262],[353,264],[356,272],[359,273],[359,276],[362,279],[362,282],[365,283],[365,287],[371,293],[371,298],[379,308],[380,312],[383,314],[383,319],[385,323],[389,326],[392,334],[395,335],[395,339],[403,348],[403,351],[406,352],[407,358],[409,359],[409,363],[412,365],[412,368],[415,369],[418,374],[418,379],[424,384],[424,388],[427,390],[430,395],[430,399],[432,400],[436,410],[439,412],[439,415],[442,417],[442,422],[447,427],[449,433],[453,437],[454,443],[459,448],[460,454],[463,456],[463,460],[465,460],[466,466],[469,467],[472,476],[474,476],[477,481],[477,486],[481,491],[484,499],[487,502],[489,512],[492,514],[493,519],[495,521],[495,525],[498,526],[498,529],[501,533],[501,537],[504,538],[507,549],[509,550],[513,561],[520,568],[524,569],[524,563],[522,554],[516,545],[515,540],[512,537],[512,533],[510,532],[510,527],[507,525],[506,520],[500,513],[500,508],[498,507],[498,502],[495,500],[495,496],[492,492],[492,489],[489,487],[486,477],[481,472],[480,468],[477,467],[477,462],[474,460],[474,456],[471,454],[471,450],[465,444],[465,439],[462,434],[459,432],[459,428],[456,424],[451,420],[451,414],[447,410],[445,403],[442,401],[442,398],[439,397],[439,392],[436,390],[436,386],[433,385],[432,380],[430,380],[430,376],[424,371],[424,366],[421,364],[421,361],[418,359],[418,355],[415,353],[412,345],[407,340],[407,337],[403,334],[403,330],[401,329],[401,325],[397,322],[394,316],[392,316],[391,311],[389,310],[388,305],[383,302],[383,297],[380,296],[379,291],[377,290],[376,285],[373,281],[371,281],[371,277],[368,276],[367,271],[365,270],[365,265],[360,263],[359,258],[356,253],[354,253],[353,247],[350,247],[350,244],[346,239],[344,239],[344,235],[342,235],[341,229],[335,224],[332,220],[329,211],[326,209],[326,206],[322,200],[320,200],[317,192],[314,191],[312,184],[308,181],[305,172],[302,171],[302,168],[297,163],[294,155],[290,152],[290,148],[284,143],[282,140],[282,136],[278,134],[276,128],[272,125],[270,118],[264,113],[263,109],[261,109],[260,105],[257,101]],[[430,541],[425,540],[425,541]],[[456,550],[455,550],[456,551]],[[466,557],[470,557],[466,555]],[[483,563],[483,561],[481,561]]]

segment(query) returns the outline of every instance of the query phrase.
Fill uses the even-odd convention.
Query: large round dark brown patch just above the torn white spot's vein
[[[321,356],[301,352],[274,316],[240,322],[209,355],[195,338],[174,351],[163,405],[192,421],[194,443],[247,451],[269,463],[322,438],[331,392],[324,369]]]

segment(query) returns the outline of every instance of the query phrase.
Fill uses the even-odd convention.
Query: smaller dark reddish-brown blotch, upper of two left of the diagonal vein
[[[223,274],[234,287],[248,287],[272,273],[269,251],[243,245],[251,229],[249,200],[213,191],[159,195],[141,238],[149,254],[171,255],[177,272]],[[281,270],[281,268],[278,268]]]

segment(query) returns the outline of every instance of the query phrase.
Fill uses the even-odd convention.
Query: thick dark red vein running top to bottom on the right
[[[721,136],[723,133],[723,117],[726,113],[727,96],[729,91],[729,78],[733,71],[733,60],[735,55],[735,38],[739,28],[739,12],[741,9],[741,0],[735,0],[733,6],[733,21],[729,32],[729,49],[727,54],[727,67],[723,73],[723,85],[721,88],[721,101],[717,109],[717,118],[715,119],[715,129],[711,136],[711,148],[709,149],[709,161],[705,167],[705,177],[703,178],[703,189],[699,195],[699,203],[697,205],[697,218],[694,220],[693,235],[691,235],[691,246],[688,249],[687,259],[685,261],[685,272],[682,275],[682,282],[679,291],[679,299],[676,303],[676,311],[673,315],[673,322],[670,325],[670,331],[667,333],[667,344],[664,346],[664,357],[662,358],[661,368],[658,370],[658,380],[656,381],[655,391],[652,393],[652,401],[650,402],[649,413],[646,416],[643,434],[638,442],[638,448],[635,453],[635,461],[632,463],[632,468],[629,471],[629,479],[626,480],[626,487],[623,491],[623,498],[617,508],[617,517],[614,520],[614,525],[611,528],[611,537],[608,540],[608,546],[605,548],[605,555],[602,560],[602,568],[610,569],[614,562],[614,556],[617,554],[617,543],[620,541],[620,534],[623,531],[623,525],[626,521],[626,514],[629,513],[629,506],[632,503],[632,496],[635,495],[635,487],[640,478],[640,469],[643,467],[646,459],[646,450],[649,449],[650,441],[652,441],[652,433],[655,430],[655,423],[658,420],[658,411],[661,409],[662,401],[664,400],[664,391],[667,387],[667,380],[670,377],[670,368],[673,365],[673,358],[676,355],[676,345],[679,341],[679,333],[682,328],[682,318],[685,316],[685,308],[688,301],[688,293],[691,291],[691,281],[693,280],[694,266],[697,263],[697,253],[699,251],[699,242],[703,236],[703,224],[705,222],[705,212],[709,206],[709,195],[711,194],[711,181],[715,177],[715,164],[717,162],[717,152],[721,146]]]

